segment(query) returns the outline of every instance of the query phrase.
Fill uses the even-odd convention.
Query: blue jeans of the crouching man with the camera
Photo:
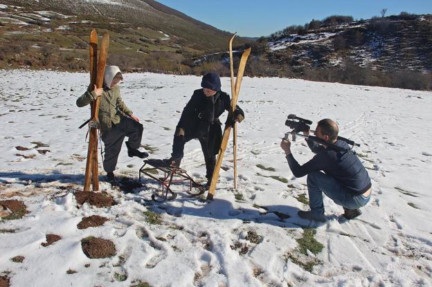
[[[362,194],[354,196],[336,179],[323,172],[307,174],[307,192],[309,193],[309,207],[312,214],[316,216],[324,215],[323,192],[334,203],[350,210],[357,210],[370,200],[370,194],[368,197]]]

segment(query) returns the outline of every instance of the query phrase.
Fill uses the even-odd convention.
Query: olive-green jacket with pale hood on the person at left
[[[123,116],[131,116],[132,111],[123,102],[120,89],[118,86],[109,89],[111,82],[116,77],[117,73],[120,72],[118,66],[107,66],[105,68],[104,85],[102,95],[100,97],[99,107],[99,123],[100,130],[102,132],[109,131],[113,124],[118,124]],[[87,104],[96,100],[97,95],[93,91],[93,87],[89,86],[89,89],[77,99],[76,104],[78,107],[84,107]]]

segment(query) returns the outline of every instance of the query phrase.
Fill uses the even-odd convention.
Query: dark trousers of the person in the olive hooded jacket
[[[143,137],[143,124],[124,117],[116,125],[113,125],[109,131],[102,132],[102,141],[105,145],[105,157],[103,167],[105,172],[114,172],[116,169],[118,155],[120,154],[123,139],[127,136],[129,146],[133,149],[139,149],[141,138]]]

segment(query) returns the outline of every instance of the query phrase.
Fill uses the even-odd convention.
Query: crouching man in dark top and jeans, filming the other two
[[[338,140],[339,128],[330,119],[320,120],[314,132],[317,138],[338,147],[349,148],[343,140]],[[309,136],[309,131],[304,132]],[[282,140],[280,147],[285,151],[291,172],[297,178],[307,175],[310,211],[300,210],[303,219],[325,222],[323,192],[334,203],[342,205],[347,219],[361,214],[360,207],[370,200],[371,183],[368,172],[359,158],[346,151],[336,151],[332,147],[319,145],[308,140],[307,145],[316,154],[305,165],[299,165],[291,154],[291,142]],[[323,172],[321,172],[323,171]]]

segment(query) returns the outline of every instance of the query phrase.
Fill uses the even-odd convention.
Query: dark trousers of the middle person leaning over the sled
[[[174,140],[172,142],[172,158],[183,158],[183,151],[186,142],[197,138],[196,136],[174,136]],[[216,165],[216,155],[213,154],[208,149],[208,140],[210,138],[198,138],[199,143],[201,144],[201,150],[204,154],[204,160],[206,162],[206,178],[210,180],[213,176],[213,171],[215,170]]]

